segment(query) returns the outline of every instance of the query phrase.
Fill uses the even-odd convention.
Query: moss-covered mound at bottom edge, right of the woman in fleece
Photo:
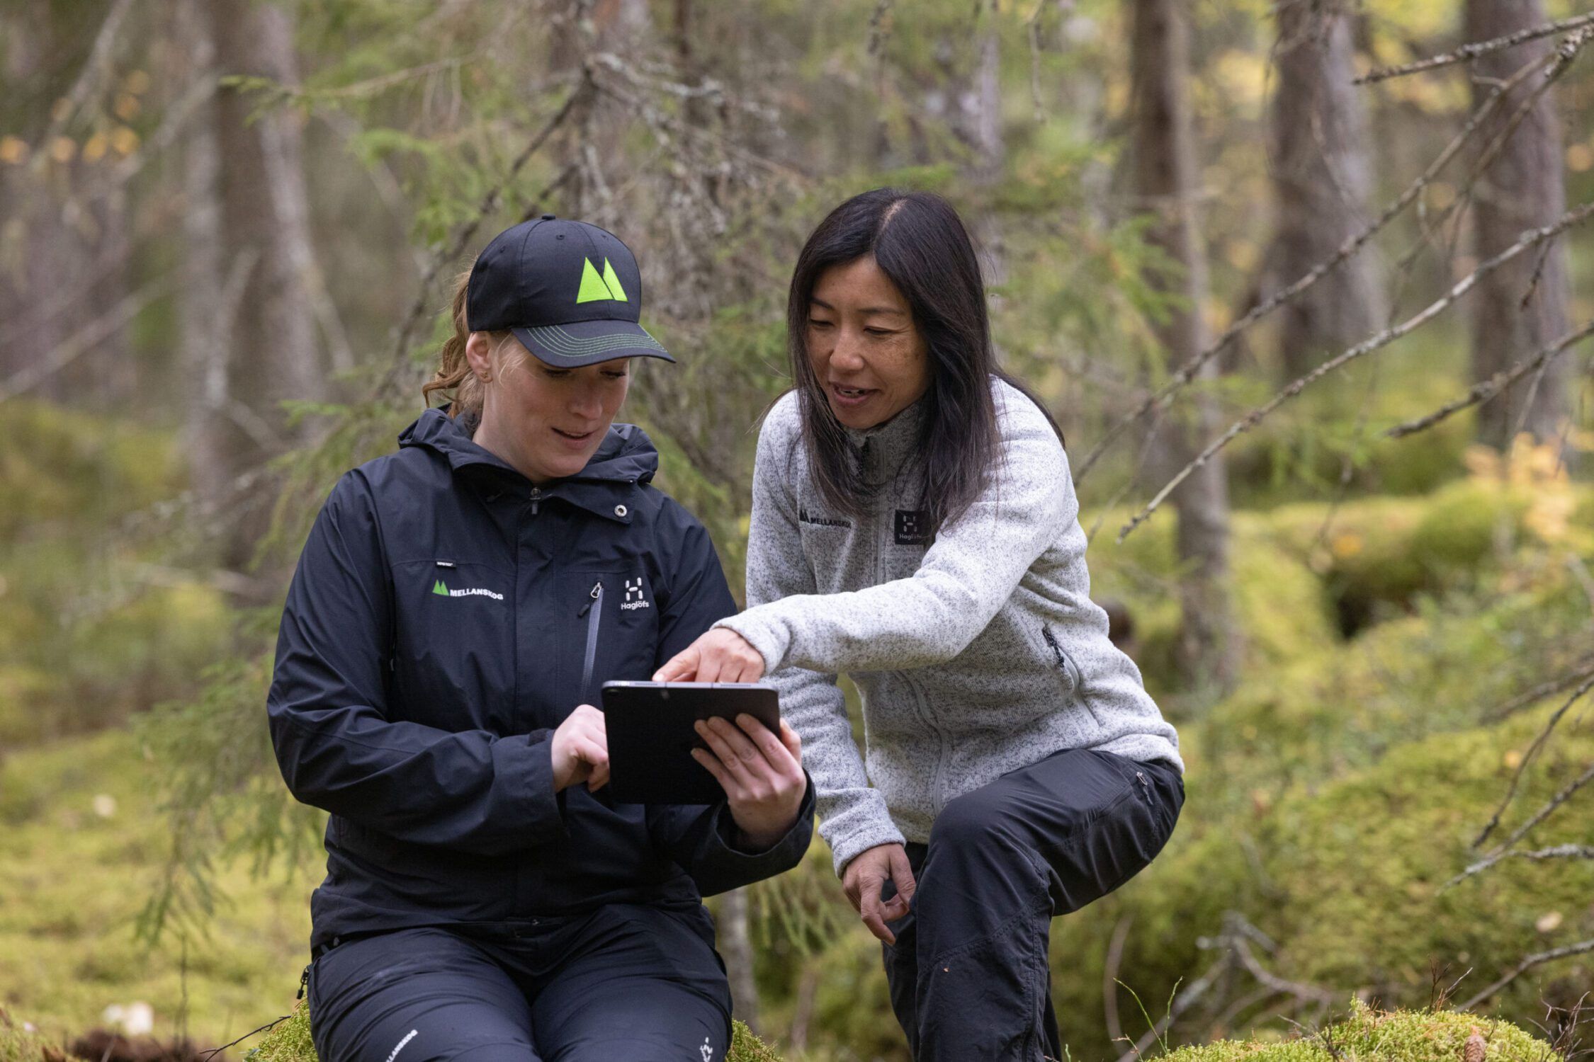
[[[1162,1056],[1167,1062],[1459,1062],[1466,1040],[1482,1037],[1490,1062],[1545,1062],[1549,1044],[1516,1025],[1452,1011],[1376,1011],[1353,1003],[1350,1017],[1313,1037],[1278,1043],[1218,1040],[1199,1048],[1180,1048]]]

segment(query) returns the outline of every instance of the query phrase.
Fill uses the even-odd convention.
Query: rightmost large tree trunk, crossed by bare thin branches
[[[1466,0],[1463,33],[1470,41],[1487,40],[1545,21],[1541,0]],[[1553,46],[1554,38],[1541,38],[1478,59],[1473,103],[1481,103],[1497,80],[1510,76]],[[1495,110],[1479,131],[1479,145],[1494,140],[1533,84],[1535,80],[1527,78]],[[1538,97],[1476,185],[1473,218],[1479,258],[1505,250],[1524,229],[1549,225],[1565,210],[1561,123],[1553,94],[1554,89]],[[1567,331],[1564,245],[1559,240],[1549,244],[1543,256],[1519,255],[1486,277],[1478,285],[1474,299],[1473,379],[1484,381],[1532,357]],[[1570,363],[1562,357],[1541,374],[1519,381],[1494,401],[1479,406],[1478,439],[1503,449],[1516,431],[1530,431],[1540,439],[1556,438],[1570,408],[1568,377]]]

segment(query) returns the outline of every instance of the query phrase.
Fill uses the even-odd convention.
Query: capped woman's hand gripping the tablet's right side
[[[708,750],[693,748],[692,758],[725,790],[730,817],[744,844],[756,852],[773,847],[797,822],[808,791],[797,731],[781,720],[776,739],[764,723],[743,712],[735,726],[720,718],[698,720],[697,732]]]

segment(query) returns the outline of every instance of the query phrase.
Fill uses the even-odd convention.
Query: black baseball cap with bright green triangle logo
[[[494,236],[465,288],[472,331],[507,328],[558,368],[633,357],[674,361],[636,323],[641,312],[642,274],[620,237],[552,213]]]

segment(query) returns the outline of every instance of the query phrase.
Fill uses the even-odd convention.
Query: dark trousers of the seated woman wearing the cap
[[[320,1062],[722,1062],[730,987],[701,904],[344,941],[309,973]]]

